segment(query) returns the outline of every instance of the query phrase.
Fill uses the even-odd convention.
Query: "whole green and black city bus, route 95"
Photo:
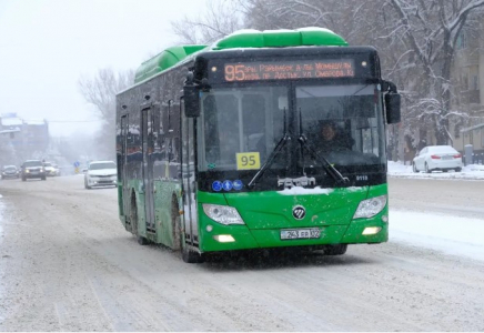
[[[121,222],[185,262],[385,242],[385,124],[399,121],[376,50],[327,29],[167,49],[117,95]]]

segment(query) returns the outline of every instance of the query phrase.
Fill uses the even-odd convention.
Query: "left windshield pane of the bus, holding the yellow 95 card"
[[[202,109],[199,170],[259,169],[283,135],[288,88],[213,89],[202,97]],[[238,164],[238,153],[252,159]]]

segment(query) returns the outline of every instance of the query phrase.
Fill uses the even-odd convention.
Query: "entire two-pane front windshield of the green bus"
[[[306,145],[331,164],[385,163],[379,85],[296,85],[292,89],[294,108],[288,102],[289,85],[220,88],[203,93],[199,170],[260,169],[284,135],[284,125],[292,138],[288,149],[300,155],[295,167],[299,170],[313,168],[319,173],[322,167],[306,149],[301,151],[298,144],[301,131],[307,138]],[[241,153],[249,154],[241,159]],[[286,150],[281,151],[271,169],[289,167],[285,154]],[[251,163],[254,168],[250,168]]]

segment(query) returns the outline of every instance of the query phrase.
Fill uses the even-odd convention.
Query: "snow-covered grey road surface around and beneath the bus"
[[[0,331],[484,331],[484,182],[389,182],[389,243],[190,265],[114,189],[2,181]]]

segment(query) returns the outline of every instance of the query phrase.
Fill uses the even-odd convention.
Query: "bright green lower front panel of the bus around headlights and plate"
[[[386,184],[370,188],[334,189],[332,193],[319,195],[282,195],[278,192],[215,194],[199,192],[200,249],[202,252],[231,251],[259,248],[325,245],[339,243],[381,243],[389,239],[387,206],[370,219],[353,220],[359,203],[367,198],[387,193]],[[224,199],[225,198],[225,199]],[[226,200],[226,202],[225,202]],[[238,209],[245,225],[222,225],[208,218],[203,203],[228,204]],[[291,209],[302,204],[306,219],[296,221]],[[208,231],[206,226],[211,226]],[[363,235],[367,226],[380,226],[374,235]],[[282,229],[319,228],[320,239],[281,240]],[[210,229],[209,229],[210,230]],[[230,234],[235,242],[220,243],[214,235]]]

